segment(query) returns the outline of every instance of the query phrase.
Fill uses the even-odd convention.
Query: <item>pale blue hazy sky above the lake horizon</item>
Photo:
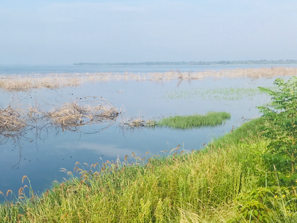
[[[0,64],[249,59],[297,59],[296,0],[0,1]]]

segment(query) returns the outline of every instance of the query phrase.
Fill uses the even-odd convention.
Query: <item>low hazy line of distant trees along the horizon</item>
[[[190,62],[140,62],[140,63],[74,63],[74,66],[135,66],[135,65],[219,65],[219,64],[297,64],[297,60],[238,60]]]

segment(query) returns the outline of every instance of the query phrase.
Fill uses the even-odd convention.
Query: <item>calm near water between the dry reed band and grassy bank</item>
[[[131,156],[132,152],[135,152],[136,156],[144,157],[146,151],[157,154],[161,150],[168,150],[183,144],[186,150],[199,150],[203,147],[203,143],[230,132],[233,125],[241,125],[242,117],[248,119],[259,116],[255,107],[268,102],[269,97],[260,94],[252,97],[243,95],[243,98],[236,100],[211,100],[211,97],[203,99],[201,95],[194,95],[190,98],[172,95],[171,98],[174,99],[168,98],[166,95],[175,90],[178,92],[218,87],[248,89],[257,86],[272,86],[273,81],[274,79],[266,78],[206,78],[182,83],[178,83],[178,81],[110,81],[57,89],[59,94],[69,99],[102,96],[118,108],[122,107],[124,120],[139,116],[143,119],[159,119],[175,114],[206,113],[208,111],[230,112],[231,119],[225,125],[214,128],[184,131],[149,128],[123,131],[119,128],[119,122],[122,120],[119,116],[116,123],[95,134],[91,133],[105,127],[107,123],[83,126],[80,132],[65,131],[63,133],[61,130],[48,128],[47,131],[39,133],[42,139],[36,138],[36,132],[33,130],[21,138],[18,143],[9,140],[0,145],[0,191],[6,192],[8,189],[12,189],[17,194],[18,189],[23,186],[21,182],[23,175],[30,178],[34,191],[44,191],[52,185],[54,180],[61,181],[63,177],[67,178],[65,173],[59,172],[59,168],[72,171],[77,161],[89,165],[101,164],[101,159],[103,161],[116,160],[119,157],[123,161],[124,156]],[[119,90],[124,93],[118,93]],[[34,97],[36,97],[44,109],[49,109],[51,107],[49,104],[67,100],[50,89],[35,89],[35,92],[34,95],[33,90],[27,92],[1,90],[1,105],[7,105],[12,97],[23,99],[22,103],[34,104]],[[3,200],[3,198],[0,199]]]

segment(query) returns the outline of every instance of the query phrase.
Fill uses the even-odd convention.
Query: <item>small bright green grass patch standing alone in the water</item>
[[[162,120],[157,122],[157,125],[180,129],[217,126],[225,123],[226,120],[230,119],[230,117],[231,114],[228,112],[207,112],[204,115],[177,115],[163,118]]]

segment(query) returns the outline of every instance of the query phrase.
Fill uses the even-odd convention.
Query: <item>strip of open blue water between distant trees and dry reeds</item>
[[[276,65],[164,65],[164,66],[73,66],[73,65],[0,65],[1,74],[48,74],[48,73],[96,73],[96,72],[129,72],[149,73],[166,72],[179,69],[181,72],[201,70],[221,70],[237,68],[259,68],[259,67],[297,67],[297,64]]]

